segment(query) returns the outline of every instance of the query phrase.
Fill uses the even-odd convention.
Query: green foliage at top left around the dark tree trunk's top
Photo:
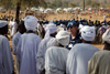
[[[47,7],[45,0],[0,0],[0,7],[15,9],[18,2],[21,4],[21,8]]]

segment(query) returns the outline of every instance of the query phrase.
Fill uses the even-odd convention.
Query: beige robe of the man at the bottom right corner
[[[110,51],[97,52],[89,62],[88,74],[110,74]]]

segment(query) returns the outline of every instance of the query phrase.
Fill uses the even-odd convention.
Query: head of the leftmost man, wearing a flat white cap
[[[7,35],[8,34],[8,22],[0,21],[0,34]]]

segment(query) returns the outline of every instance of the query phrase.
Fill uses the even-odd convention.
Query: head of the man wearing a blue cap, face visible
[[[69,22],[69,23],[67,24],[67,30],[68,30],[68,32],[69,32],[70,34],[76,35],[78,28],[77,28],[77,25],[76,25],[75,22]]]

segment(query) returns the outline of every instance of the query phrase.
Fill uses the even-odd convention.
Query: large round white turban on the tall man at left
[[[24,24],[26,30],[36,31],[37,19],[35,17],[28,15],[24,18]]]

